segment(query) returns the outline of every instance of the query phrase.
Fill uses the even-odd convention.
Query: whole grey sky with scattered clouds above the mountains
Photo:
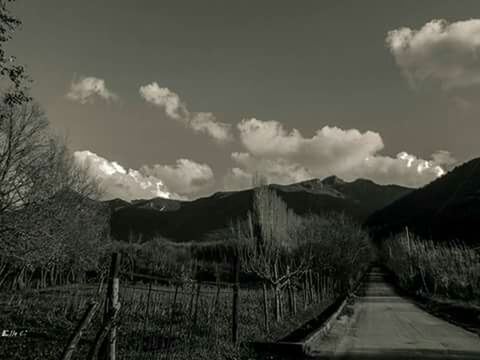
[[[17,0],[8,51],[106,198],[337,175],[423,186],[480,154],[480,2]]]

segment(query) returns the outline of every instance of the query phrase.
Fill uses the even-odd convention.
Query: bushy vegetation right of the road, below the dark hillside
[[[480,300],[480,253],[461,243],[423,240],[408,230],[382,244],[385,265],[399,285],[428,297]]]

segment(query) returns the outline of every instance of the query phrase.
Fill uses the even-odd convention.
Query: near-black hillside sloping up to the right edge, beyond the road
[[[480,158],[475,158],[372,213],[365,225],[377,240],[408,227],[435,241],[478,244],[479,219]]]

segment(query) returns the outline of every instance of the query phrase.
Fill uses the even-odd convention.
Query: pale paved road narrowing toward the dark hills
[[[323,340],[309,344],[312,355],[347,359],[476,359],[480,337],[436,318],[398,296],[373,269],[365,296],[357,298]]]

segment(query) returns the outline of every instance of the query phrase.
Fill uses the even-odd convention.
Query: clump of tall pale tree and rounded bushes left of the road
[[[283,289],[294,291],[302,282],[305,291],[313,288],[313,273],[338,281],[339,296],[372,260],[368,234],[358,224],[338,213],[299,216],[267,186],[255,189],[252,210],[231,231],[243,271],[264,291],[273,290],[275,324],[297,315],[282,312]]]

